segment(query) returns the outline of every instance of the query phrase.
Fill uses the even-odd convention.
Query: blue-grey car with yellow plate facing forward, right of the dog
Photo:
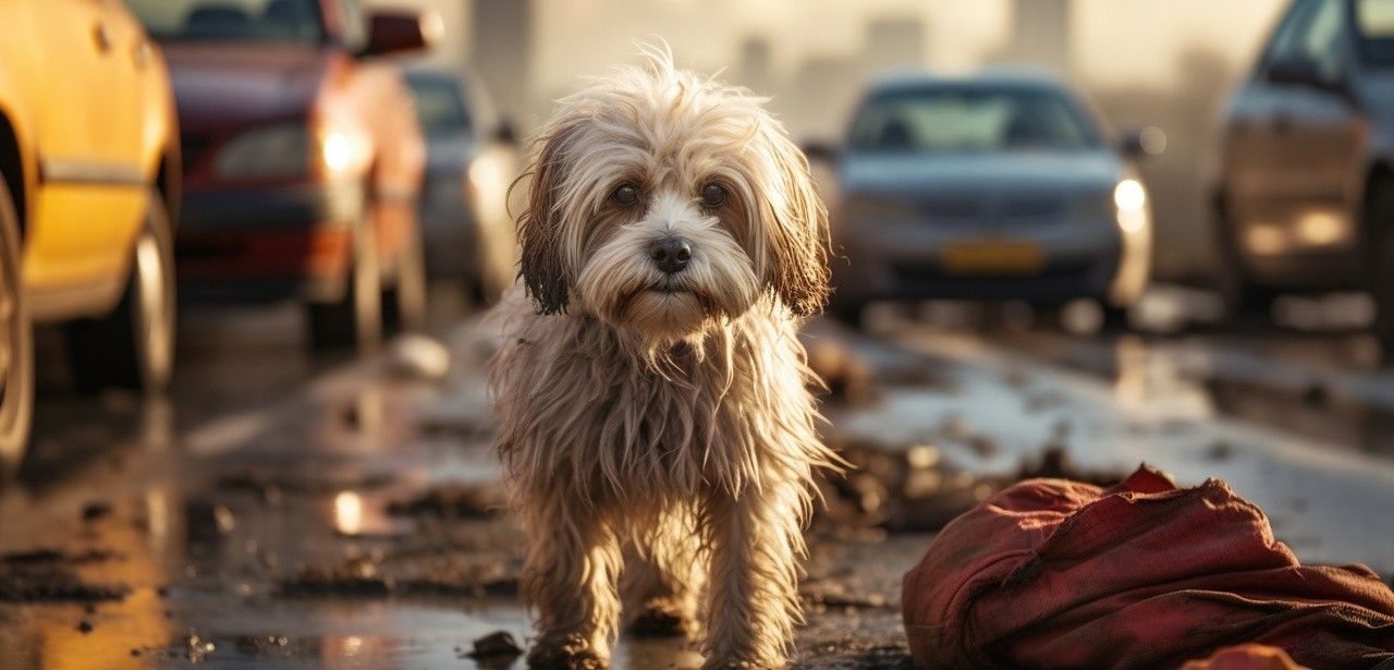
[[[871,88],[841,151],[834,315],[873,300],[1100,300],[1147,283],[1151,215],[1129,163],[1061,82],[901,75]]]

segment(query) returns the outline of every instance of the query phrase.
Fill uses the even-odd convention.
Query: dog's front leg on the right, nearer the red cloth
[[[767,482],[732,497],[714,494],[707,518],[712,544],[707,669],[785,667],[800,620],[803,556],[796,484]]]

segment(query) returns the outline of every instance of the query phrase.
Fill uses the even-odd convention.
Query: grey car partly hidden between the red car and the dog
[[[414,70],[407,84],[427,137],[421,197],[427,275],[464,282],[477,303],[492,303],[517,274],[507,207],[520,162],[513,128],[468,77]]]

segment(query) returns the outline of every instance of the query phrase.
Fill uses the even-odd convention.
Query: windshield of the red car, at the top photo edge
[[[160,42],[302,42],[325,39],[316,0],[127,0]]]

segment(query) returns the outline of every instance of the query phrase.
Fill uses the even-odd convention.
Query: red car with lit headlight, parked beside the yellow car
[[[399,68],[439,17],[358,0],[128,0],[183,123],[183,292],[307,304],[311,342],[375,342],[425,311],[425,147]]]

